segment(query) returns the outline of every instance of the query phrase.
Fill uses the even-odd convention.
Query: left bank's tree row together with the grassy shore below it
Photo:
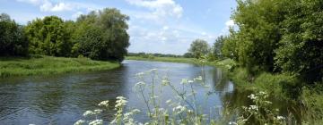
[[[24,26],[2,13],[0,76],[117,68],[129,46],[128,20],[117,9],[105,8],[80,15],[77,21],[46,16]]]

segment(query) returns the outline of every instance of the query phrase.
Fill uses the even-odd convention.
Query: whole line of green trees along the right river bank
[[[287,72],[307,83],[323,81],[322,0],[238,0],[237,29],[214,46],[197,39],[194,57],[231,58],[250,75]],[[323,83],[323,82],[322,82]]]

